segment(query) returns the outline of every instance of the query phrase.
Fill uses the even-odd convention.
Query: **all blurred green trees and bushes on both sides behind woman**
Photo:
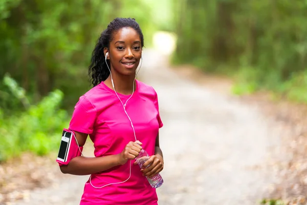
[[[136,18],[152,47],[176,34],[173,65],[307,102],[306,0],[0,1],[0,161],[58,149],[78,97],[91,88],[95,42],[115,17]]]

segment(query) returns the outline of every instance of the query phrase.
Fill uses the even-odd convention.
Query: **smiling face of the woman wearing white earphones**
[[[133,28],[122,28],[114,34],[109,45],[107,59],[111,69],[120,75],[135,76],[142,56],[141,38]]]

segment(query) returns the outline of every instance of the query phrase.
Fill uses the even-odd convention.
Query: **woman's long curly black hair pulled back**
[[[108,67],[105,62],[105,56],[103,49],[107,48],[109,50],[109,44],[112,41],[116,32],[122,28],[133,28],[140,35],[141,46],[144,47],[144,36],[140,25],[136,22],[134,18],[115,18],[107,28],[101,33],[98,38],[95,49],[92,53],[91,65],[89,66],[89,77],[90,82],[93,87],[104,81],[110,74]],[[107,64],[110,66],[109,60],[107,59]]]

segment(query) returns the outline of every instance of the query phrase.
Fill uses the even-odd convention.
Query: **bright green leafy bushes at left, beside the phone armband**
[[[14,96],[27,98],[14,79],[6,76],[5,81]],[[58,149],[59,136],[68,125],[68,113],[59,109],[62,98],[63,93],[55,90],[23,112],[8,116],[0,109],[0,161],[24,151],[45,155]]]

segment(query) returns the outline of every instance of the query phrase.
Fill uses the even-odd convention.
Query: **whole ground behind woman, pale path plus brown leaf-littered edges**
[[[227,78],[187,66],[170,68],[154,50],[145,50],[143,60],[139,78],[156,89],[164,123],[159,204],[252,205],[265,197],[287,198],[291,190],[304,193],[302,183],[295,182],[302,178],[287,181],[292,172],[307,168],[303,162],[289,163],[297,148],[291,143],[303,144],[291,133],[298,129],[301,136],[304,130],[287,114],[288,107],[272,106],[266,97],[233,96]],[[91,142],[84,150],[92,155]],[[0,204],[79,204],[88,176],[62,174],[52,157],[25,154],[2,165]]]

